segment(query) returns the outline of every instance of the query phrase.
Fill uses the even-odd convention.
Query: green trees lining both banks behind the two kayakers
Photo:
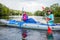
[[[44,16],[47,10],[52,10],[52,13],[55,16],[55,23],[60,23],[60,5],[58,3],[52,4],[50,7],[46,7],[45,10],[37,10],[34,13],[31,12],[26,12],[28,16]],[[9,19],[9,16],[14,16],[14,15],[22,15],[21,10],[14,10],[14,9],[9,9],[7,6],[4,4],[0,3],[0,19]]]

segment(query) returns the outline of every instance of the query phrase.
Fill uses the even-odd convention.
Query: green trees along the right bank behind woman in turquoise
[[[60,17],[60,6],[58,3],[55,3],[51,5],[50,7],[46,7],[45,10],[43,11],[38,10],[34,14],[36,16],[41,16],[41,15],[43,16],[44,13],[47,13],[47,10],[52,10],[52,13],[54,14],[55,17]]]

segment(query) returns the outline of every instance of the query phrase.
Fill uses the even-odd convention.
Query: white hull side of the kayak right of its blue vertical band
[[[47,30],[48,25],[40,25],[40,24],[23,24],[22,27],[24,28],[31,28],[31,29],[42,29]],[[60,26],[49,26],[52,30],[60,30]]]

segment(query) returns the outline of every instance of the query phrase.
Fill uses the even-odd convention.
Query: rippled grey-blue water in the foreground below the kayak
[[[47,40],[46,31],[42,30],[30,30],[0,27],[0,40],[22,40],[22,33],[26,32],[26,40]],[[60,40],[60,33],[53,33],[54,40]]]

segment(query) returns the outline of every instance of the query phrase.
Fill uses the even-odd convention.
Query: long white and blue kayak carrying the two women
[[[47,24],[42,24],[42,23],[26,23],[23,21],[16,21],[16,20],[0,20],[5,25],[8,26],[14,26],[18,28],[30,28],[30,29],[41,29],[41,30],[47,30],[48,25]],[[52,30],[60,30],[60,24],[54,24],[54,25],[49,25],[49,27]]]

